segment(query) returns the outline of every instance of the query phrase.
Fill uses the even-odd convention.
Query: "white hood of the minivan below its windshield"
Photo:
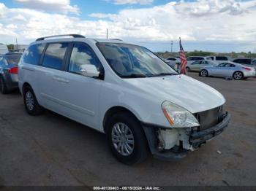
[[[203,82],[185,75],[124,79],[129,85],[152,96],[159,104],[170,101],[189,112],[197,113],[225,104],[221,93]]]

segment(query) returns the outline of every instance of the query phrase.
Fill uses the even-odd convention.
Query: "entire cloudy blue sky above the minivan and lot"
[[[153,51],[256,51],[256,0],[0,0],[0,43],[83,34]]]

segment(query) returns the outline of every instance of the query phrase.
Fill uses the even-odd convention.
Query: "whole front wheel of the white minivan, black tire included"
[[[119,112],[107,122],[106,134],[113,155],[121,163],[133,165],[146,160],[148,144],[140,122],[129,112]]]

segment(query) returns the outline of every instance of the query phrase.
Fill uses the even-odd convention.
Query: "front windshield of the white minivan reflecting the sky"
[[[119,43],[97,43],[108,64],[119,77],[158,77],[178,74],[145,47]]]

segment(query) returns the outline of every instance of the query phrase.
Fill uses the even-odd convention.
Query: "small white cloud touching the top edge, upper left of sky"
[[[39,9],[48,12],[79,13],[78,7],[71,6],[69,0],[15,0],[29,9]]]

